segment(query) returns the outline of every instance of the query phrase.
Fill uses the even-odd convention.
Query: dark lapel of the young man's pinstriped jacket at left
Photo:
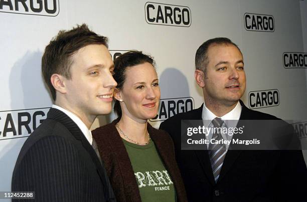
[[[80,130],[80,128],[77,126],[77,124],[71,119],[69,118],[64,112],[58,110],[58,109],[54,109],[51,108],[50,111],[48,112],[47,115],[47,119],[54,119],[60,123],[62,123],[68,130],[69,132],[77,139],[81,142],[82,146],[84,147],[84,149],[88,152],[88,154],[90,155],[91,159],[85,159],[85,160],[92,160],[96,166],[97,172],[102,180],[102,183],[104,184],[104,187],[106,185],[106,179],[104,177],[104,172],[103,172],[103,168],[102,165],[99,161],[99,158],[96,154],[96,152],[94,151],[92,145],[90,145],[90,143],[88,142],[88,140],[86,139],[86,137],[84,136],[84,134],[82,133],[82,131]]]

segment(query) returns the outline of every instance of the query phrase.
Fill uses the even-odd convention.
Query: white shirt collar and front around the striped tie
[[[222,128],[223,127],[227,127],[227,128],[236,127],[237,123],[240,119],[240,116],[241,116],[241,111],[242,111],[242,106],[241,106],[240,102],[238,102],[237,105],[235,106],[235,108],[233,108],[230,112],[228,112],[227,114],[225,114],[222,117],[219,117],[224,121]],[[211,121],[216,117],[218,117],[218,116],[216,116],[213,112],[211,112],[206,107],[206,104],[204,102],[203,111],[202,111],[202,119],[203,119],[203,122],[204,122],[204,126],[205,127],[213,126]],[[228,121],[228,120],[231,120],[231,121]],[[232,121],[232,120],[236,120],[236,121]],[[209,143],[211,141],[212,135],[213,134],[210,132],[208,134],[208,136],[206,136],[206,139],[209,140],[209,142],[207,144],[208,148],[209,148]],[[224,140],[231,140],[232,139],[232,135],[228,135],[228,134],[225,134],[225,133],[222,133],[222,137],[223,137]],[[229,147],[229,145],[226,144],[226,150],[228,150],[228,147]]]

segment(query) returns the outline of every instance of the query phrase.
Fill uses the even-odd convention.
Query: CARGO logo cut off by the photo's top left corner
[[[59,0],[0,0],[0,12],[55,17],[60,5]]]

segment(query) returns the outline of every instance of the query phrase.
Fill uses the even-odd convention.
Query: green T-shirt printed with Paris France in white
[[[155,143],[137,145],[122,139],[128,152],[142,202],[175,201],[174,183]]]

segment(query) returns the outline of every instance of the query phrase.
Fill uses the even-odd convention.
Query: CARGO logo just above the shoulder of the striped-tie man
[[[279,103],[279,91],[277,89],[251,91],[248,93],[250,109],[278,106]]]

